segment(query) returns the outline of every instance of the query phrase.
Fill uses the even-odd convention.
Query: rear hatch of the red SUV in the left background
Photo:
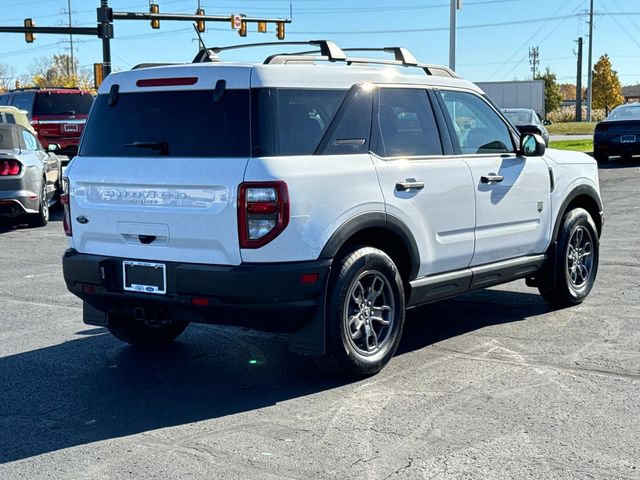
[[[92,103],[93,97],[88,92],[41,91],[36,95],[31,122],[45,146],[77,145]]]

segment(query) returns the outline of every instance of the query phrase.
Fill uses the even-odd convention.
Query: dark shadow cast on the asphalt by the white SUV
[[[548,311],[537,295],[487,291],[413,310],[398,354]],[[289,353],[285,336],[195,325],[168,349],[77,339],[0,358],[0,463],[253,411],[349,383]],[[383,371],[380,375],[385,375]]]

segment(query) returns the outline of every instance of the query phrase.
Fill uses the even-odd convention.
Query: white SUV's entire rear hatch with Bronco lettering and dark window
[[[67,171],[72,246],[241,263],[235,201],[251,153],[249,76],[212,65],[110,76]],[[214,91],[221,79],[226,88]]]

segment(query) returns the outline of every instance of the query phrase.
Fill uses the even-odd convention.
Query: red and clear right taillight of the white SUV
[[[260,248],[289,224],[289,191],[278,182],[242,183],[238,189],[240,248]]]

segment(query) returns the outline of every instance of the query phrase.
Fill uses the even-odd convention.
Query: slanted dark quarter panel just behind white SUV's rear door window
[[[355,87],[336,115],[332,132],[319,147],[320,155],[367,153],[371,134],[373,91]]]

